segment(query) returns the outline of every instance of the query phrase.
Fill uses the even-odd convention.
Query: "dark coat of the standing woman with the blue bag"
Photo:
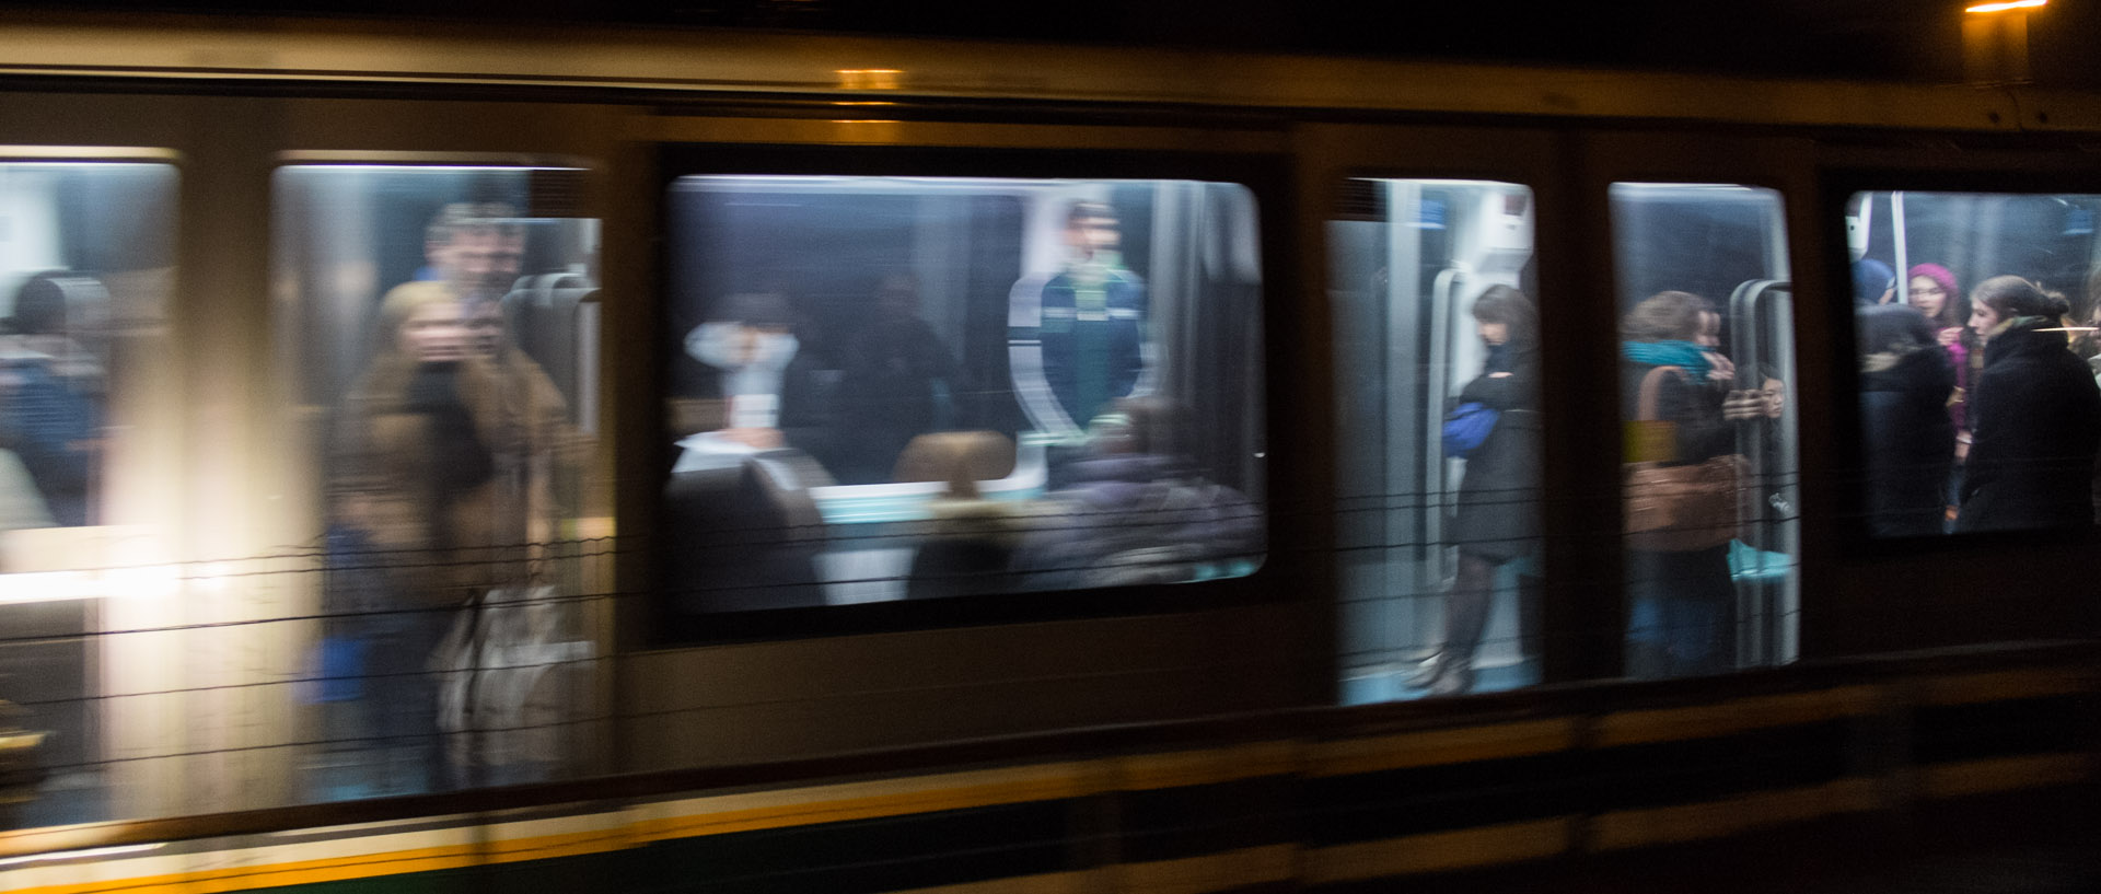
[[[1496,378],[1494,374],[1509,376]],[[1466,457],[1458,508],[1445,537],[1462,552],[1506,562],[1532,552],[1540,535],[1538,346],[1502,344],[1458,403],[1494,407],[1496,428]]]

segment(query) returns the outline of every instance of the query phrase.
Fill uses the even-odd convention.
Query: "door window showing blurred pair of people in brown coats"
[[[578,718],[548,705],[588,703],[584,596],[603,592],[582,174],[275,172],[277,342],[324,554],[317,800],[536,781],[576,755]]]

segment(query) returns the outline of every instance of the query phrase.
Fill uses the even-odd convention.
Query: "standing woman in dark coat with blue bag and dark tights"
[[[1473,688],[1473,653],[1488,627],[1496,567],[1532,552],[1540,535],[1538,313],[1523,292],[1492,285],[1473,302],[1488,361],[1458,392],[1460,403],[1496,409],[1496,426],[1473,453],[1458,485],[1448,541],[1458,546],[1458,575],[1445,592],[1445,642],[1408,686],[1429,695]]]

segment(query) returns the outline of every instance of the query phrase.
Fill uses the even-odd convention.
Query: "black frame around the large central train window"
[[[756,609],[725,613],[677,613],[668,598],[662,598],[670,579],[672,552],[656,537],[668,529],[668,502],[662,483],[651,478],[647,499],[626,497],[618,510],[620,531],[647,531],[641,537],[651,548],[641,565],[647,565],[645,592],[649,604],[641,613],[647,623],[639,640],[651,648],[710,646],[733,642],[775,642],[857,634],[893,634],[914,630],[945,630],[971,625],[1044,623],[1124,615],[1156,615],[1181,611],[1210,611],[1258,602],[1284,602],[1301,596],[1286,596],[1290,588],[1282,579],[1305,577],[1307,571],[1298,550],[1292,550],[1294,535],[1277,525],[1277,493],[1290,493],[1292,485],[1305,487],[1307,468],[1296,460],[1301,441],[1290,441],[1288,422],[1292,416],[1273,399],[1292,382],[1294,363],[1280,363],[1280,346],[1303,344],[1292,302],[1298,271],[1292,252],[1294,193],[1290,180],[1292,157],[1277,151],[1187,151],[1187,149],[1057,149],[1042,147],[962,147],[962,145],[880,145],[843,147],[811,143],[664,143],[656,147],[656,176],[651,180],[651,233],[653,241],[649,269],[653,271],[656,294],[637,313],[647,315],[651,338],[639,348],[651,371],[647,418],[630,420],[622,428],[622,443],[641,441],[643,447],[622,447],[622,468],[668,470],[677,455],[666,439],[662,418],[664,399],[672,392],[670,353],[664,348],[662,327],[672,313],[672,256],[668,250],[670,191],[685,176],[895,176],[895,178],[1074,178],[1074,180],[1202,180],[1231,183],[1244,187],[1256,206],[1256,237],[1263,258],[1261,281],[1261,395],[1263,403],[1263,472],[1265,472],[1265,550],[1254,571],[1240,577],[1202,579],[1181,583],[1141,583],[1088,590],[1038,590],[1038,592],[996,592],[966,594],[931,600],[880,600],[821,606]],[[632,403],[632,399],[628,399]],[[1317,439],[1313,443],[1324,443]],[[1311,451],[1311,447],[1307,449]]]

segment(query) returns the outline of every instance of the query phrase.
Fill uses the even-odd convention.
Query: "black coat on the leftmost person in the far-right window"
[[[1927,346],[1859,376],[1861,451],[1868,466],[1868,531],[1876,537],[1941,533],[1948,468],[1956,460],[1956,426],[1948,395],[1956,371],[1948,353]]]

